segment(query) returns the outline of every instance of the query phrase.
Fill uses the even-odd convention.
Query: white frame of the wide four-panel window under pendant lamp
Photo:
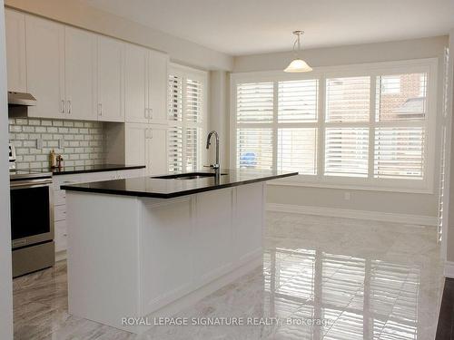
[[[274,83],[273,101],[273,169],[277,169],[277,105],[278,92],[277,84],[281,81],[296,81],[305,79],[319,80],[318,93],[318,141],[317,141],[317,174],[298,175],[287,179],[273,180],[270,184],[282,186],[303,186],[333,189],[365,189],[380,191],[398,191],[411,193],[433,193],[434,171],[435,171],[435,133],[438,119],[438,58],[427,58],[417,60],[406,60],[399,62],[384,63],[361,63],[341,66],[316,67],[311,73],[283,73],[282,71],[266,71],[252,73],[231,74],[231,105],[230,105],[230,162],[236,166],[236,86],[238,83]],[[402,73],[427,73],[427,114],[423,123],[425,124],[426,143],[424,145],[424,178],[423,180],[411,179],[377,179],[374,178],[374,152],[375,152],[375,129],[378,127],[409,127],[419,126],[413,121],[376,121],[376,86],[377,77],[380,75],[393,75]],[[325,122],[326,106],[326,80],[336,77],[370,76],[370,127],[369,133],[369,158],[368,177],[350,178],[344,176],[325,176],[325,129],[327,125],[341,127],[342,123]],[[303,124],[303,123],[302,123]],[[355,125],[355,123],[351,123]],[[361,122],[360,125],[363,125]],[[252,126],[252,125],[251,125]],[[373,128],[373,129],[372,129]]]

